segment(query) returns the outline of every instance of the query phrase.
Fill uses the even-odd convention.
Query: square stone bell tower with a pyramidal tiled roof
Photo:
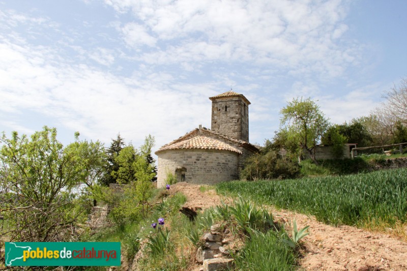
[[[211,130],[249,142],[249,100],[231,89],[209,99],[212,101]]]

